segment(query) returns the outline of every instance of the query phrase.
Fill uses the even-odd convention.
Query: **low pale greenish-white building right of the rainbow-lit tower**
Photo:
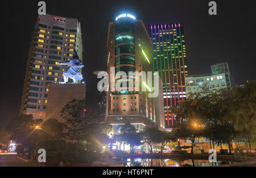
[[[186,78],[187,95],[204,92],[204,95],[216,92],[222,88],[228,88],[225,73],[191,75]]]

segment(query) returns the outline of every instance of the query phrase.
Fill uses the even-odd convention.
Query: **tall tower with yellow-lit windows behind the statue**
[[[82,60],[81,25],[77,19],[39,15],[28,52],[20,114],[46,117],[49,83],[63,82],[65,66],[76,50]]]

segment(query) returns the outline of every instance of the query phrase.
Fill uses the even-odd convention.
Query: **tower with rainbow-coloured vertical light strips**
[[[186,99],[188,66],[183,25],[151,24],[148,31],[152,40],[152,67],[154,71],[159,71],[163,80],[166,127],[171,128],[175,115],[170,108]]]

